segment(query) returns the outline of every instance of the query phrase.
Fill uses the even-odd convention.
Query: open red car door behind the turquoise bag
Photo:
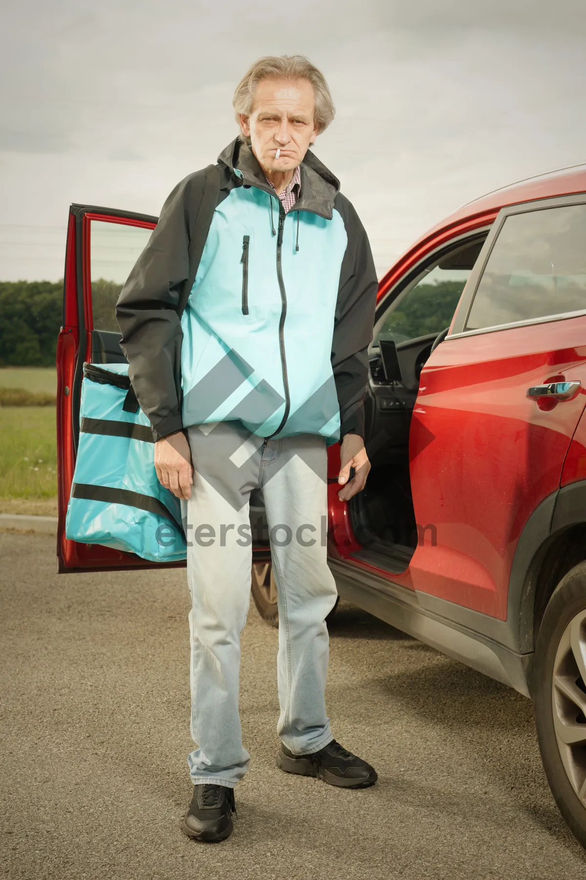
[[[115,306],[157,218],[88,205],[69,209],[63,326],[57,342],[57,570],[183,566],[65,537],[65,517],[76,465],[83,362],[125,363]]]

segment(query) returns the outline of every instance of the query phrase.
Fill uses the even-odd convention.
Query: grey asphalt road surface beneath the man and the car
[[[188,840],[184,571],[55,576],[53,538],[0,534],[0,549],[0,876],[586,877],[531,703],[351,605],[330,627],[329,715],[378,785],[276,768],[277,632],[252,606],[235,832]]]

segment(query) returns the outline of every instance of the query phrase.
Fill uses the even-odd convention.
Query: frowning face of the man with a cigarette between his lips
[[[252,112],[241,114],[240,127],[265,171],[293,171],[300,165],[317,137],[314,110],[314,88],[307,79],[260,80]]]

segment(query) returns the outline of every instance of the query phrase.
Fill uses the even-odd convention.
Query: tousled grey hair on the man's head
[[[318,70],[305,55],[264,55],[250,67],[236,86],[232,104],[238,117],[250,116],[254,91],[261,79],[280,79],[288,82],[295,79],[307,79],[312,84],[315,94],[314,120],[318,125],[318,134],[328,128],[336,114],[336,107],[329,92],[329,85],[321,70]],[[250,138],[241,139],[249,141]]]

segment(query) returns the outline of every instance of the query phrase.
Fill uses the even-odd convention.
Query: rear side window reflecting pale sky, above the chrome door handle
[[[508,216],[466,330],[586,310],[586,205]]]

